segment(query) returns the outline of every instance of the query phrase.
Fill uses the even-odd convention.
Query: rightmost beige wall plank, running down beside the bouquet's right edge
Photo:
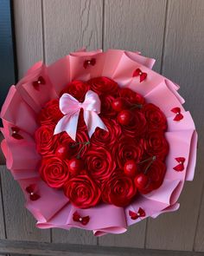
[[[202,0],[169,1],[163,74],[181,85],[180,92],[187,102],[185,108],[190,109],[194,116],[200,135],[199,150],[194,181],[185,185],[179,200],[181,202],[179,212],[168,213],[157,220],[150,220],[147,230],[147,248],[187,251],[193,249],[204,181],[204,121],[201,115],[204,108],[203,13]],[[200,228],[199,235],[204,232],[203,226]],[[199,239],[196,245],[200,244]],[[197,249],[199,247],[196,246]]]

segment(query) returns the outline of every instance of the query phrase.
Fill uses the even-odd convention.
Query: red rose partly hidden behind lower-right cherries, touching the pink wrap
[[[148,194],[152,190],[157,189],[163,184],[163,179],[166,174],[166,165],[163,161],[157,159],[153,161],[150,168],[147,170],[147,176],[150,179],[147,187],[140,189],[141,194]]]

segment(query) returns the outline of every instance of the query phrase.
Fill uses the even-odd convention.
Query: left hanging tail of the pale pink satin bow
[[[79,115],[80,110],[75,112],[73,115],[63,116],[54,128],[54,135],[65,131],[67,132],[67,135],[69,135],[73,141],[75,141]]]

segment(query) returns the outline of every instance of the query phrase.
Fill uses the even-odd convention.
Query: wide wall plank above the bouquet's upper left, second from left
[[[102,0],[43,0],[46,62],[102,46]]]

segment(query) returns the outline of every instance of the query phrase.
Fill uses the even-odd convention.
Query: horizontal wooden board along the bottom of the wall
[[[48,244],[0,240],[0,253],[19,253],[20,255],[61,255],[61,256],[202,256],[203,253],[164,250],[145,250],[128,247]]]

